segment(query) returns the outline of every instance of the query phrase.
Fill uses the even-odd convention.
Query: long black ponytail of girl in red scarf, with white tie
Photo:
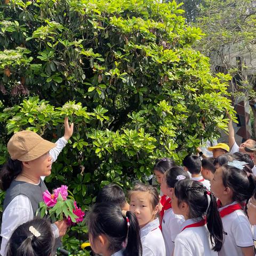
[[[209,207],[206,212],[207,228],[210,233],[211,242],[214,245],[213,250],[219,252],[223,242],[223,227],[216,197],[207,190],[204,191],[204,195],[207,197],[207,200],[210,201],[208,202]]]

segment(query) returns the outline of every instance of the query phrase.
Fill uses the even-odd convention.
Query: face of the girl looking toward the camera
[[[142,228],[155,219],[158,205],[153,209],[151,195],[148,192],[134,191],[130,198],[130,211],[135,213]]]

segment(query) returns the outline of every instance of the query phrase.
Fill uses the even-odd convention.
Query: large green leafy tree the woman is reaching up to
[[[74,135],[46,182],[68,184],[87,209],[101,186],[130,188],[151,173],[156,158],[179,163],[226,129],[230,76],[211,74],[209,59],[192,48],[202,32],[186,25],[175,1],[6,3],[1,163],[13,132],[29,129],[54,140],[69,116]],[[64,239],[69,249],[79,243],[73,234],[84,231],[71,230]]]

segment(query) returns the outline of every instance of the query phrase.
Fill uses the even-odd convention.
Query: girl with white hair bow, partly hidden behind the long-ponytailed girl
[[[181,225],[185,221],[182,215],[174,214],[171,203],[175,183],[183,179],[190,179],[188,172],[183,170],[181,167],[176,166],[164,173],[164,177],[161,183],[161,190],[165,195],[169,197],[160,212],[160,221],[164,237],[166,255],[173,254],[174,240],[180,233]]]

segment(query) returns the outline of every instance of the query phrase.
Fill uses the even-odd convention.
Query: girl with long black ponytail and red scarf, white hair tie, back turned
[[[215,196],[201,182],[180,180],[174,186],[172,209],[185,218],[173,255],[217,256],[223,229]]]

